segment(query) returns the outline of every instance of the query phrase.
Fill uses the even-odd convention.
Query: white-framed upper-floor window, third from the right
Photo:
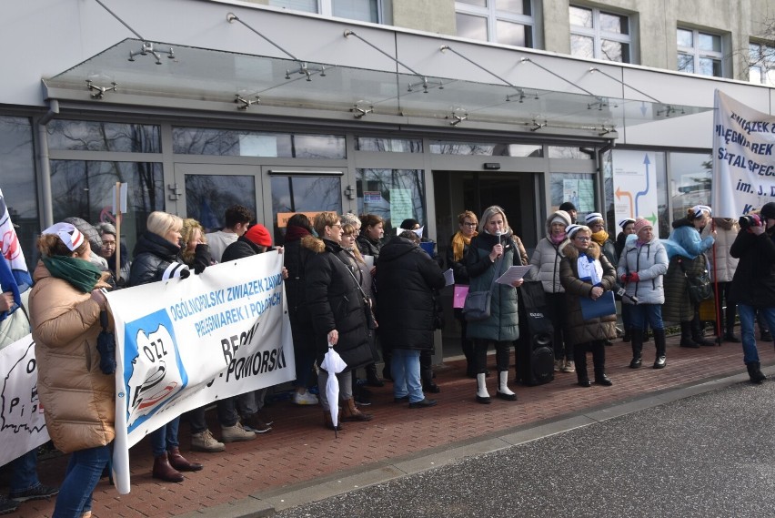
[[[629,17],[570,5],[570,54],[631,63]]]

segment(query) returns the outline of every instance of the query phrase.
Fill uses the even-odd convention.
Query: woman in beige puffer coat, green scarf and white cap
[[[53,517],[88,517],[116,437],[115,377],[100,371],[96,350],[107,272],[89,262],[88,240],[69,223],[45,229],[37,248],[29,306],[38,395],[51,440],[72,453]]]

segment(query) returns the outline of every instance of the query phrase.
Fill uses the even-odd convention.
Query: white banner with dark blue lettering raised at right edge
[[[713,216],[738,218],[775,200],[775,116],[716,90],[713,117]]]

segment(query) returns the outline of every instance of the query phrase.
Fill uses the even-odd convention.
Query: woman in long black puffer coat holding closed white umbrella
[[[373,325],[367,322],[367,311],[350,261],[340,246],[342,223],[334,212],[321,212],[315,217],[315,231],[320,239],[306,236],[301,246],[310,250],[305,264],[307,309],[312,319],[317,365],[323,362],[328,343],[333,344],[342,360],[345,371],[337,374],[339,399],[342,401],[341,421],[371,421],[369,414],[357,410],[352,394],[352,371],[374,361],[369,345]],[[328,372],[320,369],[317,386],[325,387]],[[340,430],[339,423],[331,421],[325,391],[320,391],[323,419],[327,428]]]

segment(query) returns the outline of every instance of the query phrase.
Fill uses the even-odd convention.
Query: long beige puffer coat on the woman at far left
[[[43,262],[34,278],[30,321],[48,434],[65,453],[105,446],[116,437],[116,379],[99,369],[99,304],[53,277]]]

